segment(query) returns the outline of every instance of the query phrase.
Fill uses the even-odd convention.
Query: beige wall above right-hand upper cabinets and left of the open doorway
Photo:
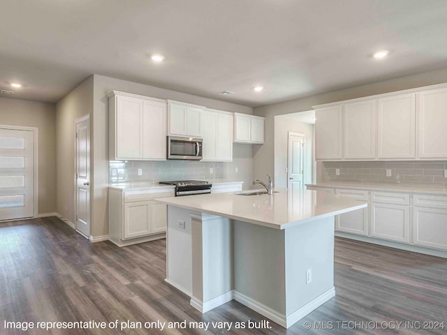
[[[400,91],[402,89],[441,84],[443,82],[447,82],[447,68],[254,108],[253,113],[255,115],[265,117],[265,143],[262,146],[257,146],[253,155],[254,178],[262,178],[266,173],[274,173],[275,115],[312,110],[313,105],[323,103],[332,103],[335,101],[360,98],[362,96]],[[321,173],[320,167],[321,165],[317,164],[317,174]]]

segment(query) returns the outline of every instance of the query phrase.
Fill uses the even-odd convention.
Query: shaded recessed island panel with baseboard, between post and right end
[[[233,247],[235,299],[281,324],[286,313],[284,230],[234,221]]]

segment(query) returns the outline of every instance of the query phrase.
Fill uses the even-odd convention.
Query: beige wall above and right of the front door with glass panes
[[[53,213],[56,211],[54,105],[0,98],[0,124],[38,128],[38,213]]]

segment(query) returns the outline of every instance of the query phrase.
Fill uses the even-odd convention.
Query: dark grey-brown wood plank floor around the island
[[[165,269],[164,239],[118,248],[91,244],[58,218],[0,223],[0,334],[447,334],[446,259],[341,238],[335,239],[336,297],[289,329],[273,322],[271,329],[230,332],[4,327],[5,320],[265,320],[236,301],[201,315],[164,283]],[[420,329],[435,326],[428,321],[446,327]],[[393,322],[403,323],[379,329],[398,328]]]

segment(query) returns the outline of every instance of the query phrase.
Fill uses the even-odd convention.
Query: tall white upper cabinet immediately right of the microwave
[[[202,161],[233,161],[233,114],[207,109],[201,120]]]

